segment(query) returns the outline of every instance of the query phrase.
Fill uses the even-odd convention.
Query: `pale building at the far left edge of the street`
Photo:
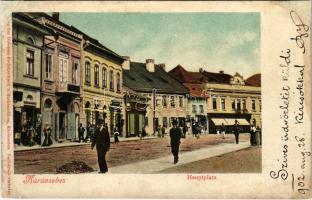
[[[21,13],[13,13],[13,121],[14,135],[22,125],[41,126],[41,65],[48,28]]]

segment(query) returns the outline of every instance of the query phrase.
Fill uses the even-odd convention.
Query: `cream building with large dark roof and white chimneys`
[[[180,126],[185,125],[188,91],[165,71],[164,64],[157,65],[153,59],[147,59],[145,63],[131,62],[128,58],[123,73],[124,85],[147,101],[146,115],[140,127],[145,127],[148,134],[154,134],[159,126],[165,127],[168,133],[174,119]]]

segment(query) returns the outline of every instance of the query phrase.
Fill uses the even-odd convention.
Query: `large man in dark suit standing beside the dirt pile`
[[[106,153],[109,151],[110,147],[110,138],[108,128],[102,124],[100,127],[96,127],[95,135],[92,140],[91,149],[96,146],[98,163],[100,167],[99,173],[106,173],[108,171],[106,164]]]

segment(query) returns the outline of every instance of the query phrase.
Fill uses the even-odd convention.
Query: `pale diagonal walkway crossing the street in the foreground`
[[[108,173],[119,173],[119,174],[151,174],[157,173],[167,168],[191,163],[198,160],[203,160],[206,158],[211,158],[214,156],[230,153],[240,149],[250,147],[249,142],[235,143],[220,143],[217,145],[210,145],[199,150],[193,150],[190,152],[179,153],[179,162],[173,164],[173,156],[165,156],[153,160],[141,161],[131,164],[126,164],[122,166],[116,166],[108,169]],[[95,172],[97,173],[97,172]]]

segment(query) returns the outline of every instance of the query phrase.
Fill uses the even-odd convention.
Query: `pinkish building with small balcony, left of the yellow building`
[[[50,124],[54,141],[78,140],[78,124],[82,112],[83,37],[73,27],[62,23],[58,13],[53,13],[52,17],[45,13],[29,15],[54,32],[44,39],[42,123]]]

